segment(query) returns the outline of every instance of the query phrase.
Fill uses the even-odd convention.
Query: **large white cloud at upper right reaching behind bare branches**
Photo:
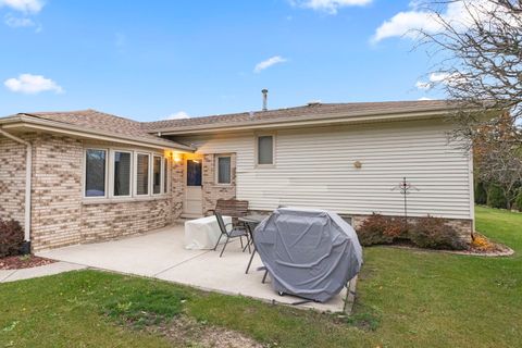
[[[434,12],[419,8],[417,2],[410,2],[410,11],[399,12],[388,21],[385,21],[375,30],[373,42],[378,42],[390,37],[415,38],[418,30],[428,34],[439,33],[444,29],[440,18],[456,28],[465,29],[474,25],[474,21],[485,21],[485,14],[497,4],[490,0],[458,0],[449,2],[440,12],[440,18]]]

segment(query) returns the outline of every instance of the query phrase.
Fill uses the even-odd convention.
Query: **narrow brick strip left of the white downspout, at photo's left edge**
[[[0,135],[0,219],[24,225],[25,146]]]

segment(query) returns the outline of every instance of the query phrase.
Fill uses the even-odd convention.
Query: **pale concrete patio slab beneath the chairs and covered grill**
[[[270,277],[265,284],[261,283],[264,272],[257,271],[262,265],[258,254],[250,272],[245,274],[250,254],[241,252],[239,241],[229,244],[221,259],[216,251],[186,250],[182,225],[169,226],[137,237],[49,250],[38,256],[269,302],[293,303],[302,300],[293,296],[278,296],[272,290]],[[355,284],[351,290],[355,290],[353,286]],[[345,297],[346,289],[328,302],[309,302],[297,307],[340,312]]]

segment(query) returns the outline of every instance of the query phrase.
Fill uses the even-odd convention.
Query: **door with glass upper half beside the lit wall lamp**
[[[201,160],[187,160],[185,169],[185,204],[183,204],[183,213],[187,217],[199,217],[203,214]]]

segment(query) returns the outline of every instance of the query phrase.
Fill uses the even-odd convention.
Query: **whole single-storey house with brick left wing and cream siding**
[[[0,217],[34,251],[139,234],[208,213],[219,198],[252,211],[443,216],[473,231],[472,158],[448,141],[446,101],[303,107],[139,123],[95,110],[0,119]]]

